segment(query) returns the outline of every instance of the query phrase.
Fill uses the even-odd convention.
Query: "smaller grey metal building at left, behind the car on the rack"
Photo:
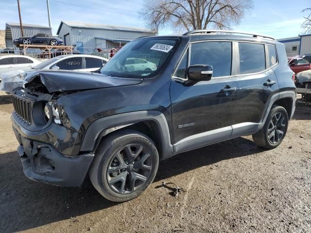
[[[23,23],[24,36],[32,36],[36,33],[45,33],[52,35],[52,29],[42,25],[25,24]],[[21,37],[19,23],[6,23],[5,24],[5,46],[8,48],[15,48],[12,40]]]

